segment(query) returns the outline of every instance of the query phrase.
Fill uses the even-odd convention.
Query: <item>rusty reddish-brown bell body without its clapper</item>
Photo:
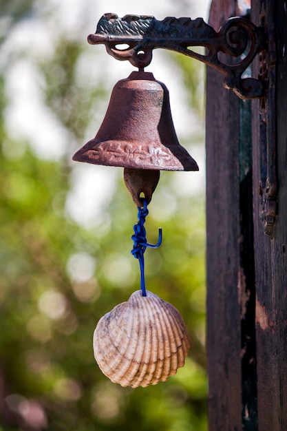
[[[73,160],[134,169],[198,171],[195,160],[178,142],[167,87],[150,72],[132,72],[116,83],[96,137]]]

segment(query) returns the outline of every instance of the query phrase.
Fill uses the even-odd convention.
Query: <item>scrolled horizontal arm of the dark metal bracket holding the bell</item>
[[[242,78],[256,54],[264,48],[263,29],[244,18],[228,19],[215,32],[202,18],[167,17],[158,21],[148,16],[119,18],[109,13],[100,18],[96,33],[89,34],[88,41],[94,45],[103,43],[115,59],[129,60],[140,70],[151,63],[155,48],[180,52],[219,70],[224,75],[224,87],[232,89],[240,98],[262,98],[266,94],[264,81]],[[121,49],[120,45],[124,44],[127,48]],[[206,48],[206,54],[192,50],[198,46]],[[235,59],[233,64],[227,64],[226,56]]]

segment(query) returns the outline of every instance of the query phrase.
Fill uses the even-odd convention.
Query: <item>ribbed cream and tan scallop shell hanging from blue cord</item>
[[[187,328],[178,310],[147,291],[104,315],[94,331],[94,355],[100,370],[121,386],[146,387],[165,381],[184,366]]]

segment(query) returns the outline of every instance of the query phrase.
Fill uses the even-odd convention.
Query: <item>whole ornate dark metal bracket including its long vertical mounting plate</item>
[[[268,8],[272,9],[271,6]],[[158,21],[150,16],[126,15],[120,18],[108,13],[100,18],[96,33],[89,34],[88,42],[93,45],[103,43],[108,54],[121,61],[130,61],[139,70],[151,63],[156,48],[179,52],[221,72],[224,87],[233,90],[240,98],[260,99],[262,222],[264,233],[273,238],[277,216],[276,47],[270,11],[262,10],[261,23],[257,27],[248,19],[235,17],[228,19],[216,32],[202,18],[167,17]],[[194,47],[204,47],[205,53],[196,52]],[[258,79],[248,76],[249,66],[257,54],[260,63]]]

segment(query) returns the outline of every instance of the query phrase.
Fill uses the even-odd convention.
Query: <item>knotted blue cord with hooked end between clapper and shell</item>
[[[147,200],[142,200],[142,208],[138,207],[138,223],[134,225],[134,235],[131,239],[134,241],[134,247],[131,250],[131,254],[138,259],[140,263],[140,289],[142,296],[147,296],[145,291],[145,257],[144,253],[147,247],[151,249],[158,249],[162,243],[162,229],[158,229],[158,243],[149,244],[146,238],[146,230],[144,227],[145,218],[147,217],[149,210],[147,209]]]

